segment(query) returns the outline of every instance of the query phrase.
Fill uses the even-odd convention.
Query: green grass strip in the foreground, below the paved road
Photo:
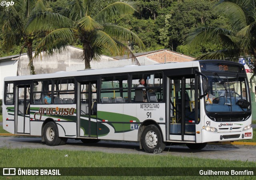
[[[256,167],[256,162],[242,162],[239,160],[220,160],[220,159],[203,159],[203,158],[191,158],[172,156],[162,156],[161,154],[117,154],[117,153],[104,153],[104,152],[89,152],[89,151],[74,151],[74,150],[50,150],[50,149],[30,149],[30,148],[0,148],[0,154],[2,156],[0,161],[1,167],[48,167],[48,168],[61,168],[61,167],[102,167],[108,168],[108,171],[114,170],[114,168],[135,168],[136,172],[143,171],[140,167],[145,168],[157,168],[163,167],[165,170],[171,171],[171,167],[179,168],[183,172],[191,170],[186,167],[198,167],[192,169],[199,172],[201,168],[218,168],[218,170],[225,170],[225,167],[242,168]],[[29,155],[28,155],[29,154]],[[65,157],[65,155],[67,156]],[[111,169],[111,167],[113,169]],[[182,168],[184,167],[184,168]],[[178,169],[178,170],[179,170]],[[74,169],[76,170],[76,169]],[[87,169],[83,169],[86,171]],[[94,169],[95,170],[95,169]],[[106,169],[101,169],[102,173],[106,172]],[[118,169],[116,169],[118,170]],[[175,169],[177,170],[177,169]],[[100,172],[99,172],[100,173]],[[122,172],[121,172],[122,173]],[[131,176],[118,177],[108,176],[102,177],[103,179],[170,179],[170,176]],[[24,178],[25,176],[23,176]],[[20,177],[21,178],[21,177]],[[26,179],[33,179],[32,176],[26,176]],[[51,177],[51,179],[57,179],[58,177]],[[60,177],[59,177],[60,178]],[[82,179],[80,176],[67,176],[62,177],[64,179]],[[89,179],[102,179],[99,176],[87,177]],[[230,179],[228,176],[174,176],[172,178],[177,179]],[[253,178],[250,176],[234,176],[232,179],[248,179]],[[7,178],[8,179],[8,178]],[[47,176],[40,176],[40,179],[49,179]]]

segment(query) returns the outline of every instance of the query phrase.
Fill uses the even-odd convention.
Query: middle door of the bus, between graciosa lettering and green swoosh
[[[78,83],[78,136],[97,137],[97,82]]]

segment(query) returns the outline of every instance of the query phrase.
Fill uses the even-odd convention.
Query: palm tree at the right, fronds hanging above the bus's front
[[[184,44],[198,47],[212,43],[217,51],[197,59],[226,59],[238,61],[239,57],[253,57],[256,75],[256,0],[220,0],[215,8],[228,19],[231,29],[221,27],[198,28],[186,36]]]

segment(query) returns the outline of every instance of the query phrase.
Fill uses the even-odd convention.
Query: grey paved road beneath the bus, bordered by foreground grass
[[[69,139],[66,145],[47,146],[38,137],[0,137],[0,148],[49,148],[58,150],[85,150],[108,153],[148,154],[139,149],[138,142],[114,142],[102,140],[94,144],[83,144],[80,140]],[[174,155],[212,159],[228,159],[256,162],[256,146],[208,144],[203,150],[190,150],[186,146],[166,146],[164,152],[151,155]]]

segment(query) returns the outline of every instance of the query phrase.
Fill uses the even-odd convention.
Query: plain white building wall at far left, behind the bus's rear
[[[3,99],[4,77],[16,76],[17,66],[17,60],[0,61],[0,99]]]

